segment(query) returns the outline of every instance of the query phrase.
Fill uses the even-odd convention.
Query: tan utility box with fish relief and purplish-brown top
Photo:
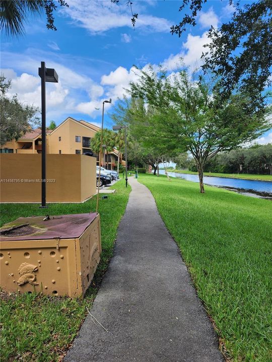
[[[4,291],[84,295],[100,261],[99,214],[19,218],[0,232]]]

